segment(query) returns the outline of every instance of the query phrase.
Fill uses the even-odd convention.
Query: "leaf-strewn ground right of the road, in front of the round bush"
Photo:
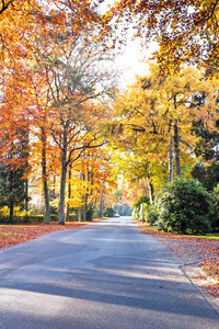
[[[219,302],[219,240],[159,232],[148,224],[136,223],[143,234],[155,235],[183,260],[191,280]]]

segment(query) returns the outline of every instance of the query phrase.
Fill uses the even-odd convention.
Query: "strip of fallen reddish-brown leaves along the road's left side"
[[[84,223],[69,222],[66,225],[51,224],[22,224],[22,225],[0,225],[0,249],[33,240],[43,235],[56,230],[71,229],[87,225]]]

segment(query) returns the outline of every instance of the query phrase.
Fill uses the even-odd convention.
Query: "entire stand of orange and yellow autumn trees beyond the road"
[[[118,1],[105,13],[102,2],[1,1],[1,220],[65,224],[134,206],[164,230],[217,231],[218,1]],[[129,26],[158,50],[119,90]],[[191,214],[180,228],[158,214],[160,191],[181,178],[210,194],[195,228],[183,227]]]

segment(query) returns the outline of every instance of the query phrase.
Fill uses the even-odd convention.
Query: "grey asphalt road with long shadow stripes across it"
[[[0,328],[219,328],[180,265],[130,217],[1,250]]]

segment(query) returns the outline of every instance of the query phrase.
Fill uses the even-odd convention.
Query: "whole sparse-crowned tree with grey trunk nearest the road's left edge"
[[[78,37],[67,24],[61,33],[50,34],[55,45],[53,53],[39,52],[50,95],[53,122],[49,134],[61,154],[60,224],[64,223],[68,166],[80,158],[87,148],[103,143],[96,144],[101,135],[96,121],[103,113],[96,111],[97,104],[92,100],[112,89],[110,75],[103,68],[110,56],[101,44],[94,42],[91,32],[84,30]]]

